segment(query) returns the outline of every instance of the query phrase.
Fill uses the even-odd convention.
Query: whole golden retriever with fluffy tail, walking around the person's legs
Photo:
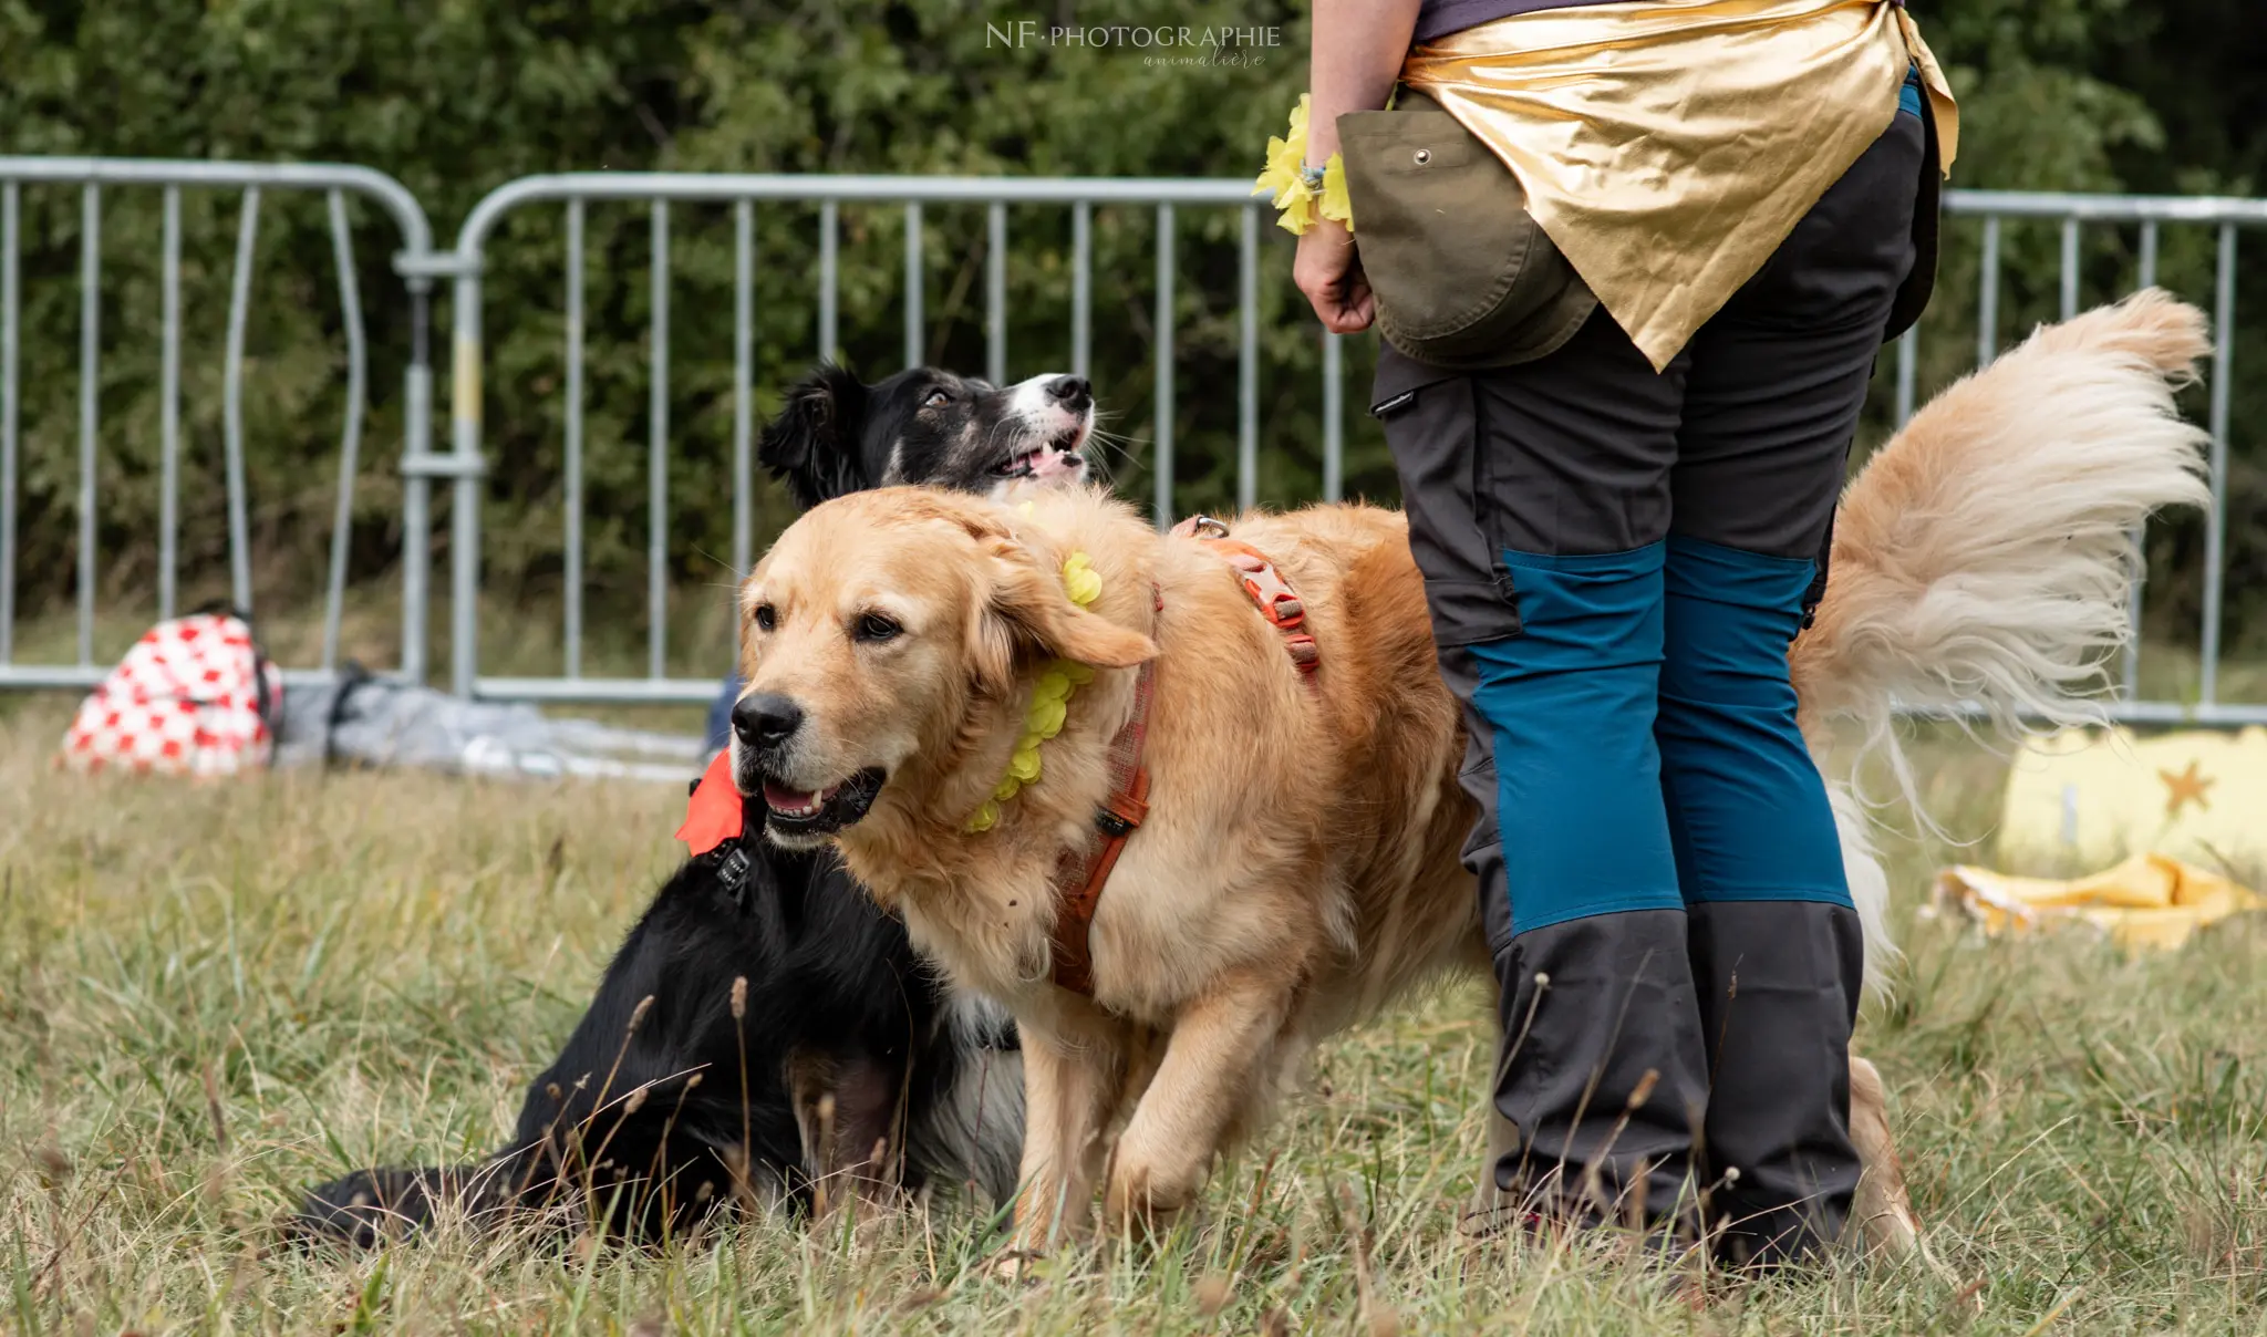
[[[2040,331],[1877,453],[1793,650],[1814,748],[1829,716],[1884,736],[1893,698],[2072,718],[2065,689],[2126,635],[2129,526],[2204,496],[2199,433],[2167,390],[2204,347],[2194,308],[2140,295]],[[741,791],[771,804],[773,838],[834,841],[914,943],[1022,1029],[1027,1249],[1084,1224],[1104,1160],[1109,1212],[1186,1206],[1317,1040],[1487,963],[1458,861],[1460,716],[1401,517],[1324,505],[1233,533],[1304,598],[1313,691],[1217,555],[1099,492],[846,496],[741,587],[741,705],[762,721],[735,743]],[[1072,553],[1099,573],[1090,607],[1065,594]],[[1093,680],[1041,777],[970,829],[1052,659]],[[1084,997],[1050,979],[1054,877],[1093,841],[1143,664],[1149,814],[1095,911]],[[1836,811],[1888,952],[1886,879],[1841,789]],[[1857,1215],[1909,1244],[1882,1083],[1854,1067]]]

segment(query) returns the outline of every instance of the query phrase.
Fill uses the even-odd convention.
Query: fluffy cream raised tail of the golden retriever
[[[2102,716],[2104,668],[2131,635],[2131,533],[2208,501],[2206,433],[2172,403],[2206,351],[2204,313],[2151,288],[2040,326],[1866,462],[1791,653],[1814,750],[1854,725],[1911,800],[1897,707],[1981,714],[2009,734]],[[1863,857],[1863,814],[1836,798],[1845,850]],[[1879,868],[1863,875],[1868,952],[1886,954],[1888,888]]]

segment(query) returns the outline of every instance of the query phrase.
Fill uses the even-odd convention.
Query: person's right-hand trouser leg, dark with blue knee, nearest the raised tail
[[[1900,116],[1687,349],[1655,739],[1709,1049],[1705,1163],[1739,1172],[1712,1203],[1734,1260],[1832,1242],[1859,1176],[1866,954],[1786,648],[1913,263],[1920,131]]]

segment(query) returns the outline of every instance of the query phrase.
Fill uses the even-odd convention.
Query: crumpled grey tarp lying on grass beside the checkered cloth
[[[345,693],[345,702],[340,702]],[[385,678],[295,687],[277,725],[277,766],[415,766],[517,780],[614,777],[687,784],[701,739],[544,716],[533,705],[462,700]]]

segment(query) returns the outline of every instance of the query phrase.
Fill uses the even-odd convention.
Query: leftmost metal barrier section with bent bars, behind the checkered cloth
[[[16,521],[18,521],[18,408],[20,408],[20,220],[23,186],[79,188],[79,460],[77,460],[77,662],[18,664],[16,630]],[[331,533],[331,567],[324,587],[322,659],[315,668],[292,666],[286,678],[326,678],[338,666],[340,612],[347,585],[347,542],[354,514],[354,480],[367,412],[367,338],[363,299],[354,267],[354,233],[347,197],[376,204],[401,233],[397,270],[406,276],[413,349],[404,385],[404,569],[401,569],[401,675],[422,680],[426,659],[426,567],[428,505],[424,462],[431,458],[433,374],[426,358],[431,279],[417,276],[415,261],[433,252],[433,229],[424,206],[406,186],[383,172],[338,163],[188,163],[147,159],[14,159],[0,156],[0,689],[93,687],[109,671],[95,664],[95,437],[100,431],[102,378],[102,190],[163,190],[161,258],[161,390],[159,390],[159,616],[175,614],[179,569],[179,465],[181,465],[181,190],[240,190],[236,270],[229,283],[229,333],[222,369],[229,601],[252,612],[252,533],[245,487],[245,317],[252,301],[252,263],[258,238],[261,190],[322,190],[331,213],[338,265],[338,301],[347,335],[347,410],[340,424],[338,505]]]

